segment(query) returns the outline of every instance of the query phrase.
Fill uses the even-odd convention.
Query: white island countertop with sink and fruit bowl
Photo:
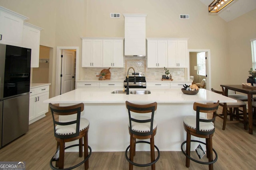
[[[120,88],[116,90],[122,90]],[[211,92],[206,89],[200,89],[196,95],[183,94],[180,88],[172,89],[130,89],[131,90],[150,90],[151,94],[111,94],[109,88],[80,88],[61,94],[54,98],[45,100],[44,103],[125,103],[125,101],[134,103],[194,103],[194,102],[236,102],[232,98]]]

